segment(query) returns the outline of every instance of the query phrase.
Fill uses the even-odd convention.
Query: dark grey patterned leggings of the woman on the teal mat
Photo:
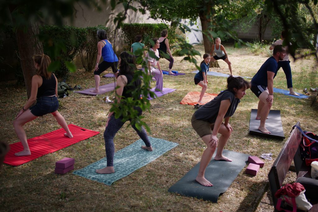
[[[131,122],[130,122],[131,123]],[[115,145],[114,145],[114,137],[118,130],[125,124],[125,122],[121,121],[121,119],[115,119],[115,116],[112,115],[110,118],[108,125],[104,132],[104,140],[105,140],[105,150],[106,150],[106,158],[107,158],[107,166],[114,166],[114,154],[115,154]],[[134,125],[131,125],[134,130],[137,132],[139,137],[145,142],[146,147],[150,147],[150,141],[148,139],[148,135],[146,130],[142,127],[141,131],[137,130]]]

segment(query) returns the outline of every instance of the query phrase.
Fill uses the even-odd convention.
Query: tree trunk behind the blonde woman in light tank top
[[[204,14],[203,12],[202,13],[200,12],[199,17],[200,17],[200,21],[201,21],[202,31],[207,32],[209,30],[210,20],[208,20],[206,18],[206,14]],[[210,39],[208,38],[208,36],[206,34],[202,33],[202,36],[203,36],[204,52],[210,54],[211,47],[214,44],[213,37],[212,37],[212,35],[209,36],[211,39],[211,41],[210,41]],[[218,61],[214,61],[214,62],[210,62],[210,67],[219,68],[220,66],[218,64]]]

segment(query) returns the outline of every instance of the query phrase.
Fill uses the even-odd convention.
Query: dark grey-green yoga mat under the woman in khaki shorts
[[[219,195],[229,188],[236,176],[246,166],[250,155],[224,150],[223,155],[233,160],[232,162],[227,162],[214,160],[215,153],[205,170],[205,178],[213,184],[212,187],[203,186],[195,180],[200,166],[200,163],[198,163],[183,178],[171,186],[168,191],[218,202]]]

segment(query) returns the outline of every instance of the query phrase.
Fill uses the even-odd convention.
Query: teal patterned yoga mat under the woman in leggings
[[[86,166],[85,168],[74,171],[73,174],[77,174],[90,180],[102,182],[110,186],[113,182],[131,174],[138,168],[147,165],[162,154],[168,152],[170,149],[179,145],[178,143],[152,137],[149,137],[149,141],[154,149],[152,152],[141,148],[142,145],[145,145],[141,139],[115,152],[114,174],[97,174],[95,172],[96,169],[107,166],[106,157]]]

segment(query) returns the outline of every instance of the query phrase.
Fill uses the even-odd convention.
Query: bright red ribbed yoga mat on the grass
[[[73,124],[68,125],[68,128],[73,134],[73,138],[68,138],[64,135],[65,130],[63,128],[54,130],[50,133],[40,135],[31,139],[28,139],[28,144],[31,150],[30,156],[15,156],[14,153],[23,150],[21,142],[10,144],[10,151],[4,157],[4,163],[11,166],[19,166],[21,164],[32,161],[45,154],[56,152],[79,141],[86,140],[99,134],[98,131],[88,130]]]

